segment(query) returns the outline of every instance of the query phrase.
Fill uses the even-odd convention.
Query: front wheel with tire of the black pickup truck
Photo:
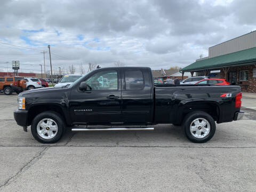
[[[41,143],[55,143],[62,137],[65,127],[65,122],[58,113],[45,111],[33,119],[31,133]]]

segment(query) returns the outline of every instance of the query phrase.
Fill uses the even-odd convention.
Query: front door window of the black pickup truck
[[[117,71],[100,71],[86,80],[88,90],[118,90]]]

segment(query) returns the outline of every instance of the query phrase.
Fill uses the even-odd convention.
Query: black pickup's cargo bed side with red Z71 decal
[[[155,86],[154,92],[155,123],[170,119],[170,123],[180,124],[181,117],[194,110],[216,116],[217,123],[231,122],[239,111],[235,108],[236,94],[241,92],[239,86],[166,84]]]

